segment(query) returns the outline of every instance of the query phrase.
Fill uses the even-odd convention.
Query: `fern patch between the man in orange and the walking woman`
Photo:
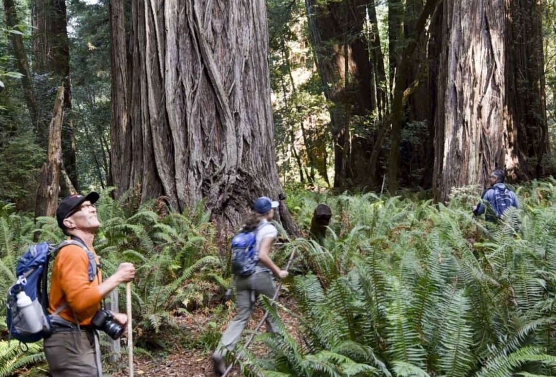
[[[153,203],[129,212],[122,200],[105,194],[101,197],[97,209],[102,227],[95,250],[102,257],[106,274],[113,273],[123,261],[135,264],[133,317],[140,333],[156,337],[161,326],[176,325],[180,307],[185,310],[191,302],[207,303],[208,297],[199,297],[187,284],[193,273],[197,282],[209,280],[220,266],[217,249],[212,246],[214,230],[207,221],[209,214],[198,205],[183,214],[161,216]]]

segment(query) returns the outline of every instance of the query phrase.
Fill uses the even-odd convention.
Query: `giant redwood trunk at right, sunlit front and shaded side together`
[[[452,187],[485,183],[497,168],[511,176],[528,177],[527,158],[535,153],[542,156],[529,145],[531,138],[539,150],[546,150],[544,111],[535,122],[525,125],[523,120],[527,115],[524,108],[534,103],[543,103],[536,105],[537,109],[544,106],[544,79],[538,68],[524,69],[534,67],[532,57],[507,59],[508,54],[523,54],[528,49],[508,47],[517,37],[515,12],[508,4],[509,0],[443,3],[444,39],[435,116],[436,200],[448,199]],[[511,78],[520,70],[534,77],[534,85],[528,87],[533,93],[530,96],[515,91]],[[518,106],[520,101],[524,103]],[[528,135],[533,136],[528,139]]]

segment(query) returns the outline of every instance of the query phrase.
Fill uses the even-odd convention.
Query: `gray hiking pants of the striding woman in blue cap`
[[[231,320],[228,328],[222,334],[219,347],[216,354],[224,356],[226,350],[234,350],[237,341],[240,340],[241,331],[245,328],[253,310],[256,301],[251,299],[251,290],[255,291],[255,295],[263,294],[272,299],[276,290],[274,284],[274,276],[270,271],[255,272],[251,276],[236,276],[236,306],[237,313]],[[267,333],[275,333],[276,326],[272,325],[270,316],[266,319]]]

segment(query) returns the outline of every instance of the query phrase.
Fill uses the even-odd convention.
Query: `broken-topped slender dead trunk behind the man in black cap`
[[[54,216],[58,206],[58,193],[60,191],[60,141],[62,135],[64,88],[61,86],[56,93],[53,117],[50,122],[48,137],[48,161],[42,166],[41,186],[37,190],[37,206],[35,216]]]

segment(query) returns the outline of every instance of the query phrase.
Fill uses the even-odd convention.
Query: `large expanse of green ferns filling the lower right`
[[[290,289],[299,334],[282,325],[279,336],[259,335],[269,354],[245,353],[244,368],[290,376],[555,375],[554,183],[518,190],[522,209],[496,226],[458,198],[433,206],[373,194],[326,197],[335,214],[327,239],[294,241],[310,271]]]

